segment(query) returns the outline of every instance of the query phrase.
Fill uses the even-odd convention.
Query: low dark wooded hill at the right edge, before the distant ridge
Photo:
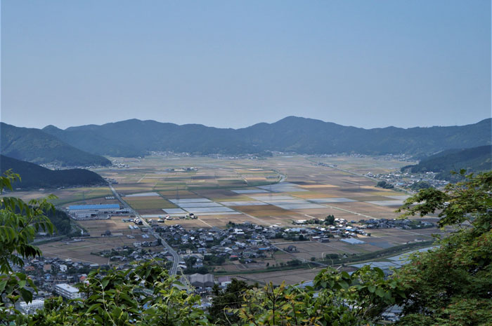
[[[448,149],[422,159],[417,165],[403,167],[410,172],[437,172],[439,179],[455,181],[462,179],[451,171],[481,172],[492,170],[492,147],[480,146],[470,149]]]

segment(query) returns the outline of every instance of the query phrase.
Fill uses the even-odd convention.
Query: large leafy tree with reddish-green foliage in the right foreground
[[[467,175],[465,182],[448,184],[444,191],[422,190],[404,208],[405,215],[439,211],[441,226],[465,227],[440,240],[434,250],[413,255],[395,273],[407,296],[400,324],[490,325],[492,172]]]

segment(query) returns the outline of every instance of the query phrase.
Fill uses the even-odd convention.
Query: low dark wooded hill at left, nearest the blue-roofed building
[[[49,170],[34,163],[0,155],[0,172],[10,170],[21,176],[14,189],[58,188],[60,186],[95,186],[105,184],[101,175],[85,169]]]

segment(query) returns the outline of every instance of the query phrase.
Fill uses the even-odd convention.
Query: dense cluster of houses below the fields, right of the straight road
[[[212,227],[210,229],[186,230],[183,226],[157,226],[155,231],[160,236],[176,247],[183,262],[180,268],[183,271],[195,271],[207,265],[210,257],[217,259],[239,260],[244,264],[254,262],[254,259],[268,257],[278,247],[271,239],[285,240],[311,240],[320,243],[330,241],[330,238],[349,238],[358,235],[367,236],[365,227],[355,226],[345,219],[335,219],[330,226],[319,225],[317,227],[293,227],[282,229],[279,226],[260,226],[245,222],[243,224],[228,224],[228,229]],[[208,256],[208,257],[207,257]],[[193,265],[186,264],[189,257],[194,257]]]

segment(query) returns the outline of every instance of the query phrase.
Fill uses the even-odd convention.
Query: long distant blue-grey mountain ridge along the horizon
[[[43,131],[73,147],[109,156],[144,156],[149,151],[193,154],[354,152],[427,156],[444,149],[491,144],[491,121],[488,118],[471,125],[450,127],[363,129],[288,116],[276,123],[231,129],[131,119],[65,130],[48,125]]]

